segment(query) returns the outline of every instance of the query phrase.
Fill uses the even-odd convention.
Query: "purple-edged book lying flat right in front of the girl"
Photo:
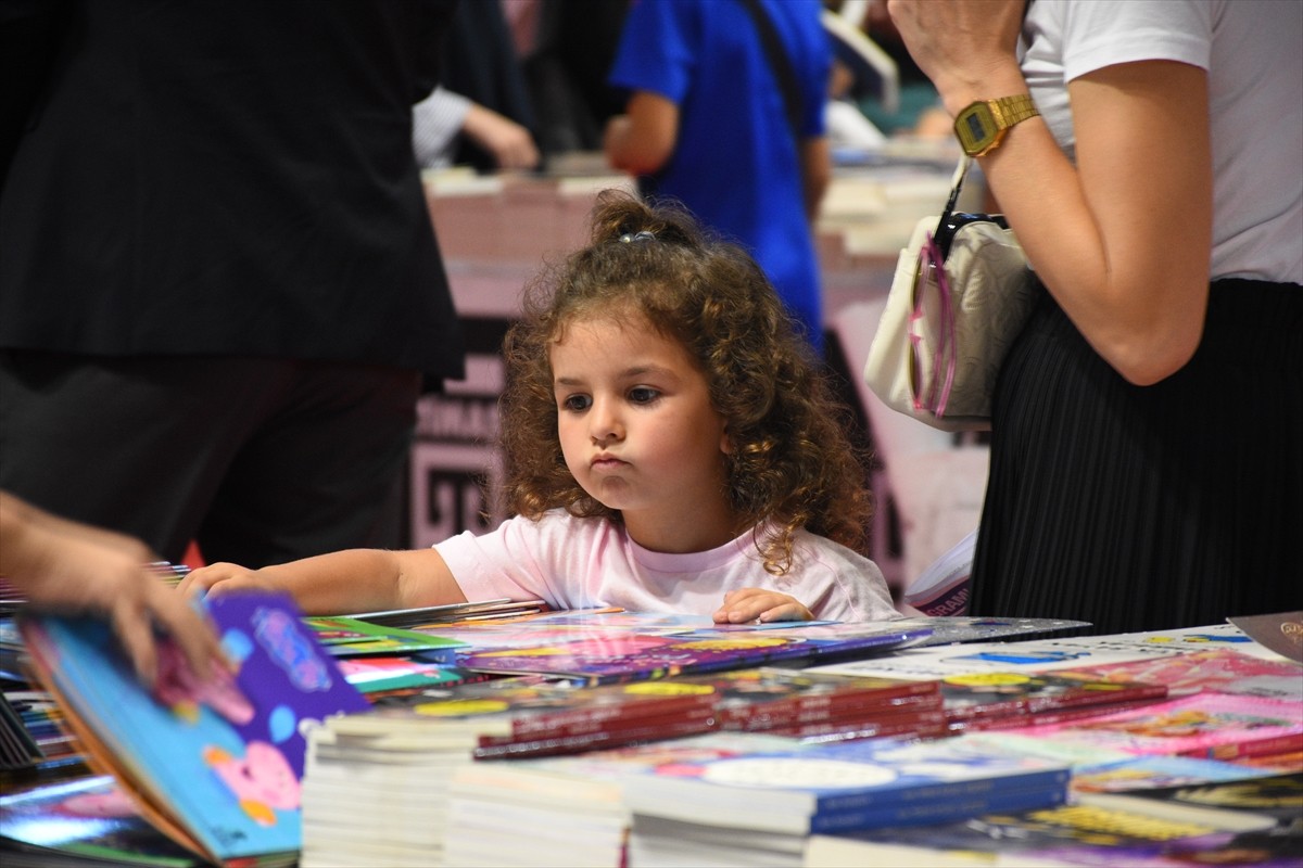
[[[605,630],[585,639],[558,638],[533,647],[472,649],[457,665],[496,674],[536,673],[602,685],[726,669],[818,655],[899,648],[928,635],[894,622],[814,625],[672,635]]]

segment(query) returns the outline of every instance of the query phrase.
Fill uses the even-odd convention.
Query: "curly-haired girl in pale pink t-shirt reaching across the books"
[[[859,554],[865,474],[760,267],[675,207],[603,193],[592,243],[504,344],[516,517],[430,549],[356,549],[181,588],[291,592],[309,614],[509,597],[717,622],[896,617]]]

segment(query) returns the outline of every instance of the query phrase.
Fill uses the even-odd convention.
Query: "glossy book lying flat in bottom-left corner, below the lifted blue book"
[[[199,868],[198,855],[141,817],[109,776],[89,776],[0,796],[5,864]]]

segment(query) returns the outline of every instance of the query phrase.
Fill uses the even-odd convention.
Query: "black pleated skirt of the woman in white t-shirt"
[[[1303,286],[1212,285],[1135,387],[1044,294],[1001,371],[971,612],[1100,634],[1303,609]]]

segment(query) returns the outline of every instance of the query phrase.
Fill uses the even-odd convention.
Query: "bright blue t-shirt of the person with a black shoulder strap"
[[[831,47],[820,0],[761,0],[795,69],[803,137],[823,134]],[[641,0],[629,9],[614,86],[679,107],[674,154],[657,193],[745,246],[820,344],[818,260],[778,77],[735,0]]]

